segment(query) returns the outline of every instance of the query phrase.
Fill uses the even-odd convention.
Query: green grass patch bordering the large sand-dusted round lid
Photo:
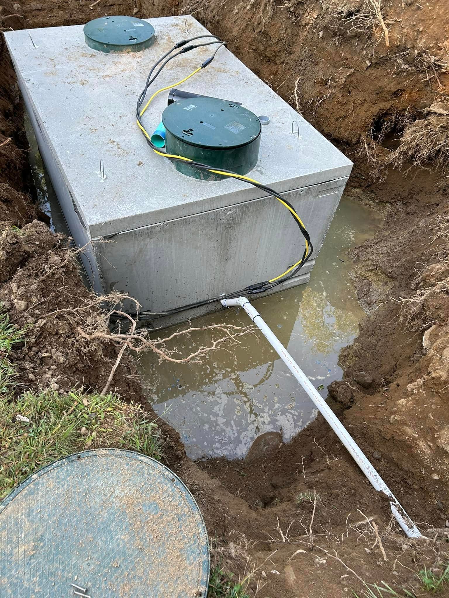
[[[116,395],[53,390],[0,401],[0,499],[28,475],[84,449],[135,450],[160,459],[159,429]]]

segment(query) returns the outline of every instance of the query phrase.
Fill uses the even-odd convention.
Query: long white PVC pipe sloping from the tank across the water
[[[330,427],[333,429],[335,434],[342,441],[345,448],[350,453],[351,457],[353,457],[354,461],[357,463],[360,469],[362,469],[363,473],[371,482],[375,490],[377,490],[378,492],[383,492],[389,497],[390,508],[392,509],[392,513],[395,516],[396,521],[398,521],[399,525],[406,533],[406,535],[409,538],[421,538],[420,530],[418,530],[411,518],[401,507],[401,505],[398,502],[398,499],[396,499],[395,495],[393,495],[392,491],[389,489],[387,484],[383,481],[383,479],[371,465],[369,460],[365,457],[365,454],[362,453],[354,439],[348,433],[347,429],[345,429],[345,427],[339,421],[338,417],[336,417],[335,413],[333,413],[332,409],[321,397],[320,393],[317,392],[313,384],[301,370],[296,361],[292,358],[290,353],[280,343],[280,341],[278,340],[276,335],[271,331],[268,325],[265,324],[265,322],[262,319],[262,316],[260,316],[260,313],[257,312],[257,310],[251,305],[251,303],[247,300],[246,297],[238,297],[236,299],[222,299],[222,305],[225,307],[243,307],[243,309],[248,314],[248,316],[250,316],[254,324],[256,324],[258,328],[260,328],[265,338],[280,355],[281,359],[292,372],[293,376],[295,376],[296,380],[298,380],[299,384],[301,384],[302,388],[304,388],[305,392],[307,392],[312,401],[318,407],[318,410],[320,410],[320,413],[322,414],[324,419],[327,421],[327,423],[329,423]]]

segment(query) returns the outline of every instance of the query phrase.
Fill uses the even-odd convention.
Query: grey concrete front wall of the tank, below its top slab
[[[285,194],[310,232],[313,258],[346,181]],[[273,197],[263,197],[119,234],[103,246],[99,260],[108,291],[128,292],[142,310],[160,312],[278,276],[303,251],[290,212]],[[313,264],[314,259],[301,274]]]

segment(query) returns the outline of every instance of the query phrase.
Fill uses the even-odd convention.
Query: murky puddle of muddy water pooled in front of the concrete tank
[[[310,282],[254,301],[324,397],[327,385],[341,378],[338,353],[356,337],[363,316],[347,251],[380,225],[377,212],[343,198]],[[251,324],[243,310],[234,308],[192,326],[222,322]],[[207,332],[193,334],[183,351],[187,355],[208,342]],[[157,364],[150,354],[141,357],[139,367],[156,413],[178,430],[193,458],[244,457],[260,434],[281,432],[287,442],[316,416],[311,400],[258,331],[216,350],[202,364]]]

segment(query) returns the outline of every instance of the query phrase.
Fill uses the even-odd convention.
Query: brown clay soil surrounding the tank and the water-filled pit
[[[363,582],[397,592],[371,586],[379,598],[426,595],[416,573],[438,577],[449,563],[449,172],[431,163],[399,172],[387,158],[411,123],[449,114],[446,3],[383,2],[388,47],[361,0],[90,4],[2,2],[0,26],[191,13],[354,161],[348,193],[385,216],[383,230],[351,255],[367,316],[342,351],[344,379],[330,386],[329,404],[429,539],[406,539],[321,417],[291,443],[272,437],[233,462],[193,463],[161,423],[166,463],[198,501],[213,558],[235,579],[251,574],[250,596],[371,596]],[[77,331],[101,312],[67,240],[34,202],[22,100],[2,39],[0,60],[0,301],[31,331],[13,355],[20,388],[101,390],[119,349]],[[130,357],[113,386],[153,413]],[[442,585],[439,595],[449,595]]]

